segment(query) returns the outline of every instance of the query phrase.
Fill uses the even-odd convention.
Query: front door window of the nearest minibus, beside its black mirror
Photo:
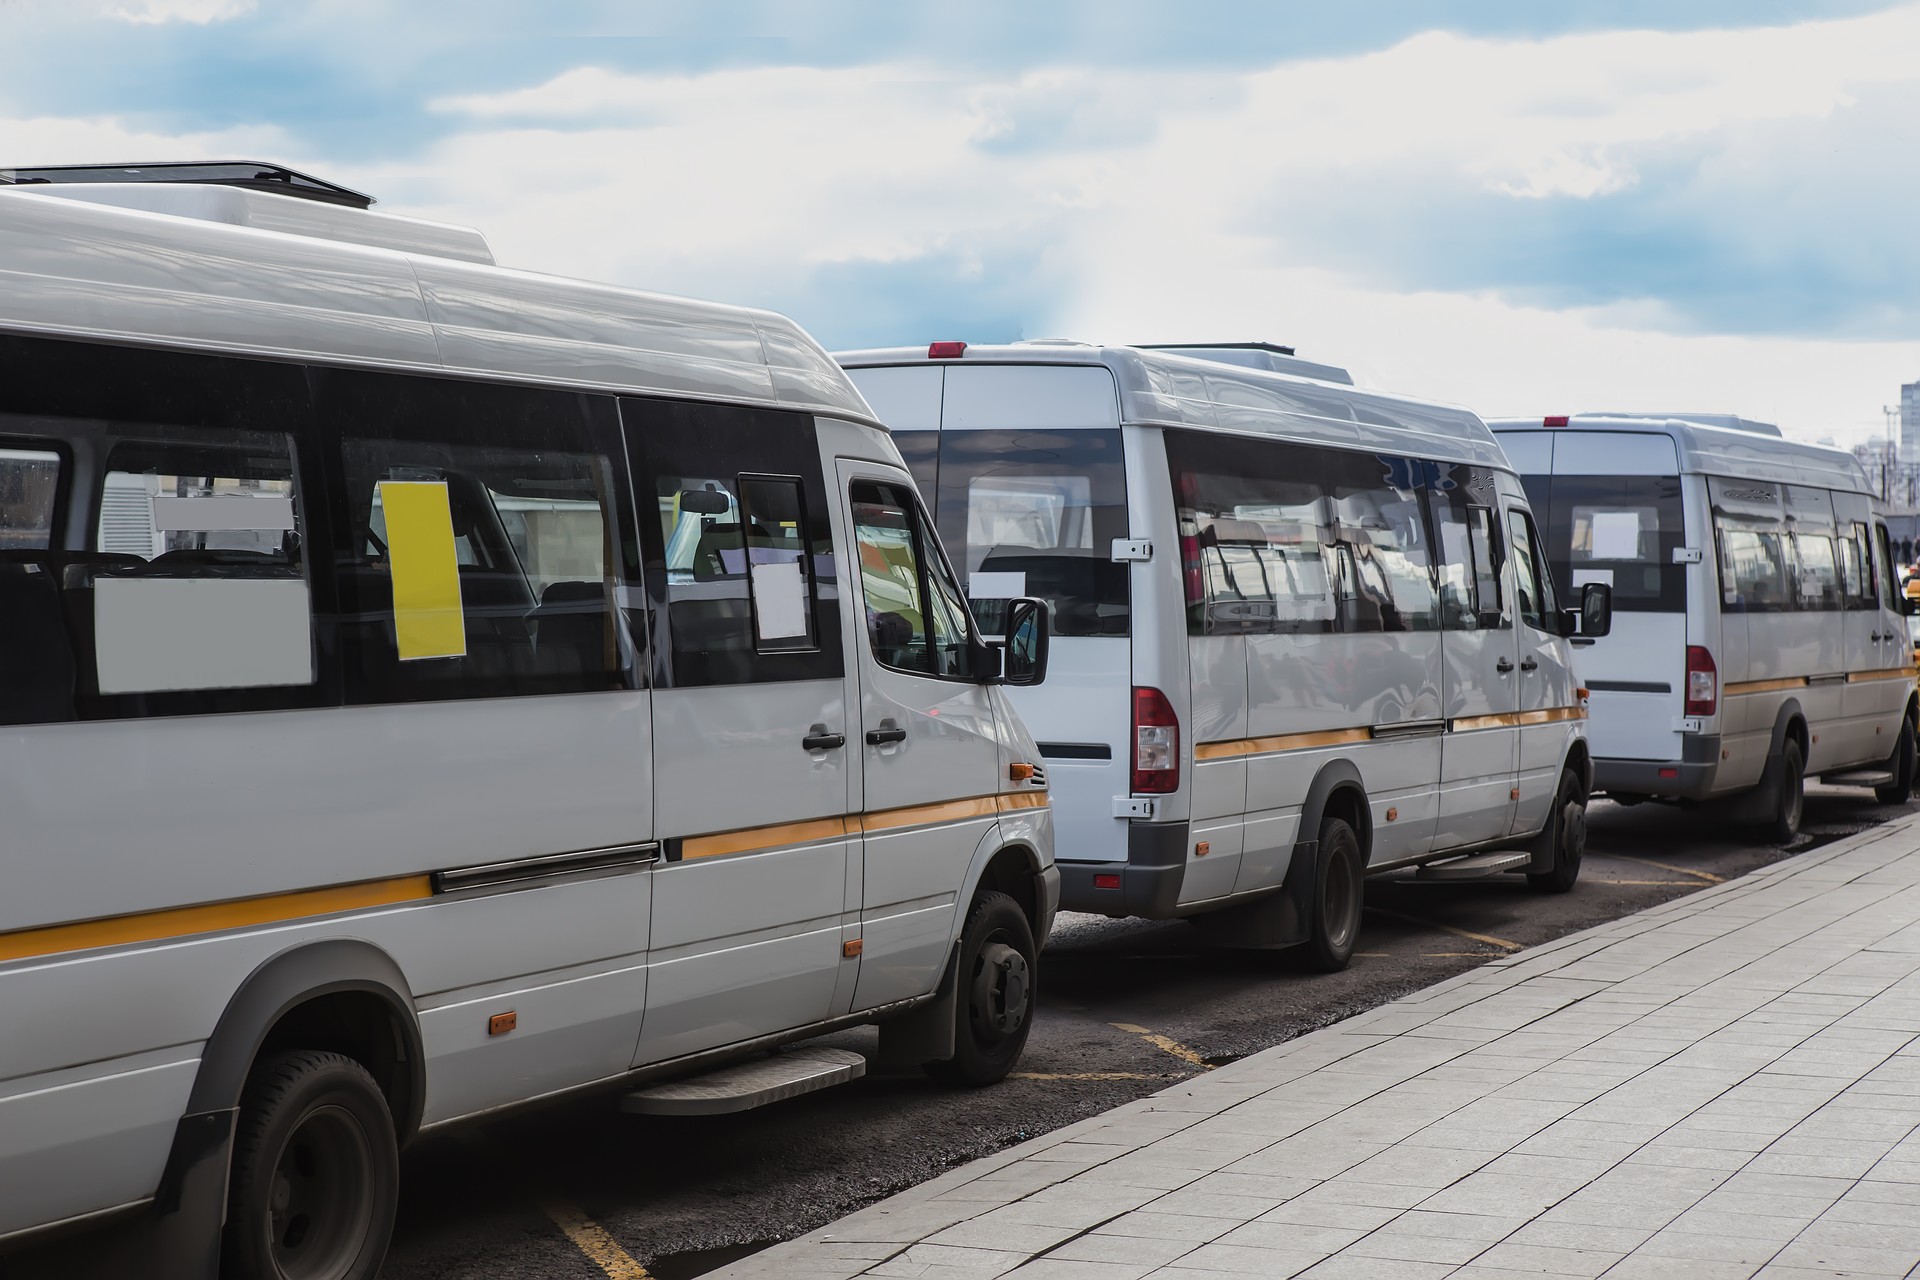
[[[874,658],[900,672],[966,677],[966,604],[912,495],[862,480],[851,497]]]

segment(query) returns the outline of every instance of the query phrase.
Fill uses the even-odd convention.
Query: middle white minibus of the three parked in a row
[[[1572,887],[1590,762],[1567,637],[1605,631],[1609,591],[1561,606],[1476,416],[1258,345],[837,359],[981,626],[1012,599],[1052,610],[1052,676],[1016,704],[1066,908],[1334,969],[1367,873]]]

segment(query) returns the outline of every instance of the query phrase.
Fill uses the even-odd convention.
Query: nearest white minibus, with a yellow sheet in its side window
[[[793,322],[367,203],[0,171],[10,1245],[365,1280],[424,1130],[1025,1042],[1043,606],[981,639]]]

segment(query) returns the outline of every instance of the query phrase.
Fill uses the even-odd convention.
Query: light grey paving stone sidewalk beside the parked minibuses
[[[1488,963],[718,1276],[1920,1276],[1916,850]]]

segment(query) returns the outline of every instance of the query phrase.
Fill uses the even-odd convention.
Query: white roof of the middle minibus
[[[1121,422],[1248,432],[1513,470],[1494,434],[1467,409],[1171,351],[1016,342],[968,347],[952,361],[929,361],[925,347],[835,351],[833,357],[847,368],[1104,365],[1119,390]]]

